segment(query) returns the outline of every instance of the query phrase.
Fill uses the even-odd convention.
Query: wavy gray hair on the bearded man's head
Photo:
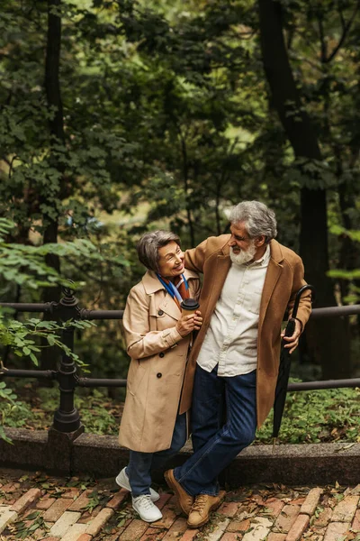
[[[275,212],[260,201],[242,201],[233,206],[229,221],[231,224],[243,222],[250,238],[264,235],[266,244],[277,234]]]

